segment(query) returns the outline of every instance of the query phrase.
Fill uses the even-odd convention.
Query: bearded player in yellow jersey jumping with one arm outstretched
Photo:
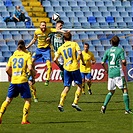
[[[59,30],[62,32],[61,30]],[[49,85],[50,80],[50,74],[51,74],[51,48],[48,37],[48,34],[51,32],[57,32],[55,28],[47,28],[46,22],[41,21],[40,22],[40,28],[37,29],[34,32],[34,38],[31,40],[31,42],[28,44],[26,48],[29,48],[31,45],[33,45],[36,41],[38,41],[37,49],[35,53],[32,56],[32,61],[34,62],[38,58],[42,58],[44,62],[46,62],[47,65],[47,77],[45,86]]]

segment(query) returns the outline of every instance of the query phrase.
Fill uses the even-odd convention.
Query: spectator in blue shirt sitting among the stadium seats
[[[25,14],[20,9],[20,6],[16,6],[16,10],[14,11],[14,14],[13,14],[13,21],[15,22],[25,21]]]

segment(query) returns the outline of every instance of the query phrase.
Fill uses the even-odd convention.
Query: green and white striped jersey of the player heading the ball
[[[51,44],[53,45],[54,51],[64,43],[64,36],[61,32],[52,32],[49,34]]]

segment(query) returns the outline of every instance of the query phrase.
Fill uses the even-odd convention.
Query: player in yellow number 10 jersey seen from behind
[[[73,101],[72,107],[77,111],[81,111],[82,109],[78,106],[78,100],[82,91],[82,78],[79,71],[78,60],[76,54],[80,55],[80,58],[84,64],[84,60],[82,57],[82,52],[80,50],[79,45],[76,42],[71,41],[71,33],[64,33],[65,43],[59,47],[57,54],[55,55],[54,61],[58,65],[58,57],[62,55],[64,59],[64,90],[61,93],[60,102],[58,105],[58,109],[63,112],[63,105],[67,93],[70,90],[72,80],[77,84],[77,90],[75,92],[75,99]]]

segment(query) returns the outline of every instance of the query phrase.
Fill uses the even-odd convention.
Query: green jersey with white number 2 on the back
[[[124,50],[120,47],[111,47],[106,50],[102,62],[108,61],[108,76],[110,78],[121,75],[121,60],[125,60]]]

